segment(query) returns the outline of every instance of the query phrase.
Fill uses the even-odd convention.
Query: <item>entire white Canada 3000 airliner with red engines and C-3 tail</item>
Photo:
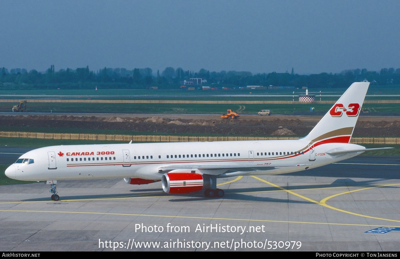
[[[58,201],[61,180],[124,178],[129,184],[161,181],[166,193],[204,190],[223,197],[218,178],[272,175],[307,170],[354,157],[368,150],[351,144],[369,82],[353,83],[308,135],[294,140],[211,141],[58,145],[34,149],[5,174],[17,180],[46,181]]]

